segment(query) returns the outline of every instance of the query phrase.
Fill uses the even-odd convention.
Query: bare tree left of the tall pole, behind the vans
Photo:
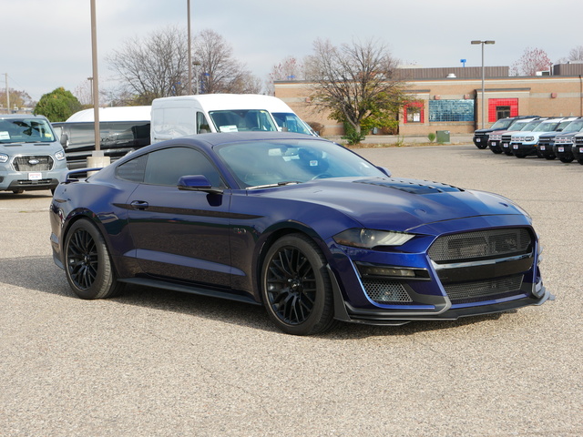
[[[121,94],[134,96],[137,105],[156,97],[179,96],[188,89],[188,39],[170,26],[148,39],[135,37],[107,57],[121,80]]]

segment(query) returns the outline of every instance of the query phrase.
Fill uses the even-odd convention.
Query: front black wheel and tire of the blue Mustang
[[[293,335],[334,325],[332,285],[322,251],[303,234],[275,241],[261,268],[261,298],[273,323]]]

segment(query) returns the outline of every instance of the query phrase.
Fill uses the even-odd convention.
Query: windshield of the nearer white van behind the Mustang
[[[251,130],[278,130],[268,111],[263,109],[233,109],[209,111],[217,132],[245,132]]]

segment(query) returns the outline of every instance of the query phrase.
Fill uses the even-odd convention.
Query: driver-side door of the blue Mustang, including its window
[[[201,151],[167,147],[146,155],[144,180],[128,198],[128,226],[140,268],[154,277],[230,287],[230,191],[179,190],[186,175],[223,186]]]

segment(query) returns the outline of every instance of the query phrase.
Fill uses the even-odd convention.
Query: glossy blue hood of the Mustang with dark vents
[[[371,229],[408,230],[452,219],[524,214],[495,194],[408,178],[320,179],[268,196],[333,208]]]

